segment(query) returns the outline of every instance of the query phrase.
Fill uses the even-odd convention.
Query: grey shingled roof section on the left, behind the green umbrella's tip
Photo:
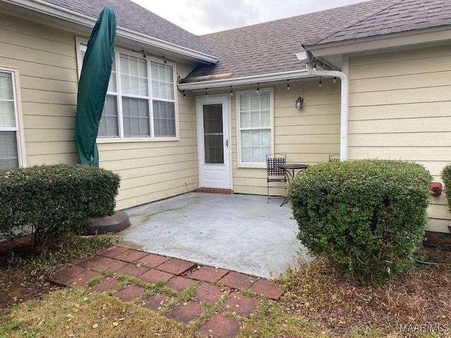
[[[214,56],[197,35],[174,25],[130,0],[43,0],[66,10],[97,19],[106,5],[113,7],[118,27]]]

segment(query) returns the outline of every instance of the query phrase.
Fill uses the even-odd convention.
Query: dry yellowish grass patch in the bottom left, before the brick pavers
[[[147,308],[76,288],[61,289],[13,308],[0,325],[0,336],[194,337],[183,325]]]

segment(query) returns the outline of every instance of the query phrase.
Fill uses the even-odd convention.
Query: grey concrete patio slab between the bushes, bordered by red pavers
[[[282,199],[192,192],[125,210],[121,245],[259,277],[283,273],[300,253],[297,223]]]

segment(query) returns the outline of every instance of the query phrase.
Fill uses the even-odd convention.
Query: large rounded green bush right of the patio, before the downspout
[[[385,160],[313,165],[289,189],[297,238],[362,284],[403,272],[424,236],[431,174]]]

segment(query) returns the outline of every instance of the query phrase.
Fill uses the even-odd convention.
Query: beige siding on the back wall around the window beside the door
[[[340,151],[340,83],[323,79],[302,82],[302,109],[295,108],[300,94],[299,80],[262,85],[274,89],[274,151],[287,154],[287,162],[321,163],[328,154]],[[252,89],[252,88],[246,88]],[[233,191],[266,195],[266,168],[242,168],[237,165],[236,95],[232,97]]]

